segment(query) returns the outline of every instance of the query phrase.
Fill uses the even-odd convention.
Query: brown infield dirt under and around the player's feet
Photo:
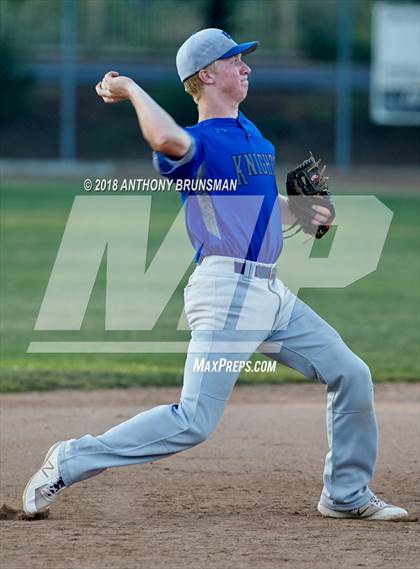
[[[203,445],[109,470],[63,493],[47,519],[1,521],[4,569],[404,569],[419,560],[419,386],[375,388],[372,488],[411,522],[321,518],[327,449],[321,385],[237,387]],[[1,503],[20,508],[55,441],[99,434],[178,389],[4,395]],[[13,516],[10,516],[13,517]]]

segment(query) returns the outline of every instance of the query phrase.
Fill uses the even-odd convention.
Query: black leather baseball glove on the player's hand
[[[299,228],[292,235],[287,235],[286,239],[296,235],[299,231],[313,235],[316,239],[321,239],[327,233],[330,225],[312,223],[317,214],[312,207],[314,205],[325,207],[330,211],[329,222],[335,217],[335,209],[328,191],[328,178],[324,176],[326,166],[321,168],[320,164],[321,160],[315,160],[311,152],[309,158],[287,174],[287,195],[290,211],[296,217],[296,222],[286,231],[296,226]]]

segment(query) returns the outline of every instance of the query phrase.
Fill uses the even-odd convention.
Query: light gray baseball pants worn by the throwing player
[[[192,330],[180,401],[160,405],[104,434],[66,441],[59,468],[69,486],[114,466],[159,460],[189,449],[214,431],[239,375],[235,362],[260,351],[316,379],[327,390],[327,435],[321,503],[337,510],[358,508],[373,495],[377,426],[367,365],[339,334],[278,279],[244,274],[229,257],[206,257],[185,289]],[[264,266],[264,265],[263,265]],[[232,361],[214,372],[197,362]],[[210,368],[210,369],[209,369]]]

